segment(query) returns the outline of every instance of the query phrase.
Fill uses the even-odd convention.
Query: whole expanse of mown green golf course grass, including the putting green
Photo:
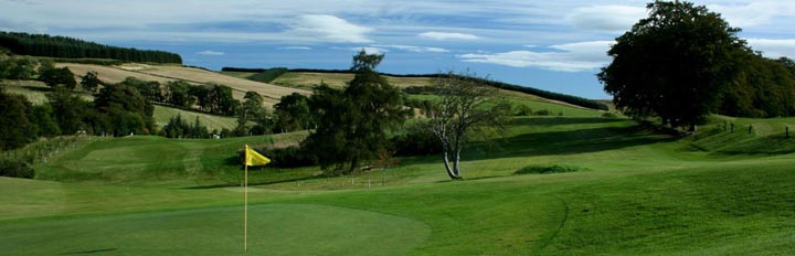
[[[252,211],[271,214],[250,215],[259,225],[257,230],[262,228],[250,241],[251,249],[295,245],[294,234],[324,231],[300,245],[268,252],[795,253],[795,160],[783,154],[792,152],[785,149],[795,148],[795,140],[784,140],[781,134],[784,125],[795,119],[733,120],[739,127],[755,124],[759,128],[749,135],[721,131],[722,117],[717,117],[714,125],[701,128],[701,136],[674,140],[644,131],[625,119],[598,116],[596,111],[568,109],[564,117],[518,118],[499,147],[488,150],[475,146],[465,152],[463,173],[469,180],[463,182],[447,182],[437,157],[402,159],[401,167],[386,172],[385,185],[380,184],[382,172],[378,170],[296,181],[310,178],[317,170],[255,168],[251,179],[259,185],[250,194],[256,205]],[[114,255],[237,253],[240,235],[225,234],[240,234],[240,226],[234,224],[240,222],[235,216],[240,209],[230,207],[240,205],[240,190],[215,185],[234,184],[241,173],[223,162],[234,158],[234,150],[244,143],[286,143],[303,136],[93,141],[39,169],[45,177],[81,182],[0,179],[0,192],[12,195],[0,199],[0,207],[10,209],[0,213],[0,233],[14,234],[0,238],[0,247],[42,254],[103,249],[113,249],[105,253]],[[123,161],[117,156],[128,159]],[[527,166],[561,163],[587,171],[511,175]],[[347,212],[350,209],[362,211]],[[322,217],[298,214],[307,211]],[[362,216],[365,221],[340,220],[340,215],[351,214],[367,215]],[[398,220],[391,218],[394,216]],[[401,221],[405,224],[390,226]],[[400,241],[365,241],[372,235],[371,228],[403,231],[412,223],[422,223],[416,228],[405,227],[418,241],[391,233],[390,237]],[[100,224],[110,227],[97,230]],[[166,227],[157,227],[160,225]],[[269,230],[273,225],[282,227]],[[423,235],[427,234],[425,228],[430,235]],[[39,243],[52,241],[42,235],[42,230],[59,237],[68,231],[68,239]],[[184,234],[191,234],[190,242]],[[406,246],[372,250],[368,247],[372,243]],[[324,246],[311,247],[318,244]],[[341,247],[350,250],[333,250]]]

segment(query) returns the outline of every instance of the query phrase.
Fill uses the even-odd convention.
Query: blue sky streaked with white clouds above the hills
[[[635,0],[0,0],[0,30],[162,50],[221,70],[346,70],[360,50],[393,74],[467,72],[607,99],[595,74],[647,17]],[[795,58],[795,1],[693,1],[768,57]]]

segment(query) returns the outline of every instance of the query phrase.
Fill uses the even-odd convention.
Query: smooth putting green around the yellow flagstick
[[[23,222],[0,226],[0,254],[235,255],[243,207]],[[431,234],[424,223],[317,204],[248,206],[252,255],[402,255]]]

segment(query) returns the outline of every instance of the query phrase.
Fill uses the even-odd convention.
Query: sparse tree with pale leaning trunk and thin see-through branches
[[[434,79],[438,98],[425,103],[424,124],[442,143],[442,160],[447,175],[462,179],[460,153],[473,136],[490,139],[490,134],[507,130],[511,106],[497,99],[497,88],[483,85],[468,74],[447,75]]]

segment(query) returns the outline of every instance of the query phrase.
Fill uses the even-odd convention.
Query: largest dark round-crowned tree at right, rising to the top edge
[[[655,1],[649,17],[616,39],[597,74],[618,108],[664,125],[696,125],[735,79],[745,42],[720,14],[689,2]]]

